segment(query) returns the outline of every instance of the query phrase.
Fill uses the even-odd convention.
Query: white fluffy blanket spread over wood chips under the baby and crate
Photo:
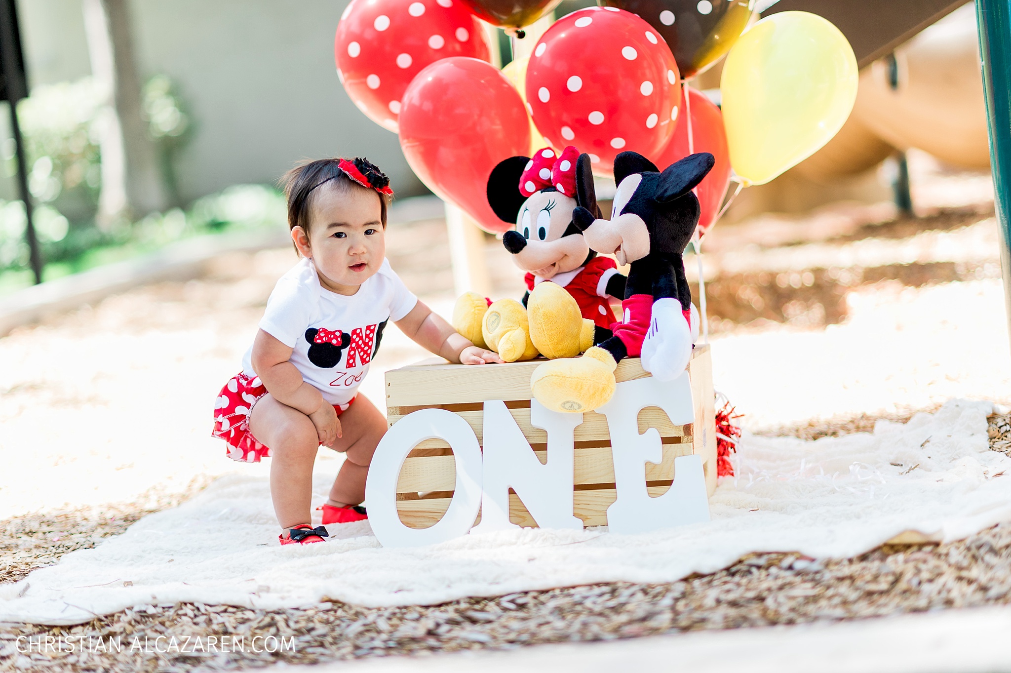
[[[265,608],[333,598],[432,604],[591,582],[665,582],[749,552],[849,557],[905,531],[941,541],[1011,519],[1011,458],[989,451],[989,402],[951,400],[872,434],[802,442],[745,434],[711,498],[713,519],[637,536],[607,528],[469,535],[383,549],[367,522],[280,547],[266,479],[222,477],[95,549],[0,586],[0,621],[75,623],[142,603]],[[319,461],[316,500],[338,466]],[[1007,471],[1005,473],[1005,471]]]

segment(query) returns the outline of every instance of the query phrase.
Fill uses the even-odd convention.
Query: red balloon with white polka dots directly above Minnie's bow
[[[527,101],[552,146],[574,145],[593,173],[615,157],[652,156],[670,140],[680,108],[677,64],[657,31],[635,14],[589,7],[548,28],[527,68]]]

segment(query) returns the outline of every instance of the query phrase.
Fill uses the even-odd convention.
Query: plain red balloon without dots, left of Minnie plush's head
[[[403,93],[399,135],[407,164],[429,189],[487,231],[513,227],[488,205],[487,181],[498,162],[528,154],[530,120],[494,67],[455,58],[423,70]]]

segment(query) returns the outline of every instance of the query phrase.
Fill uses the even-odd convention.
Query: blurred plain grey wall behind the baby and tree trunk
[[[425,191],[396,135],[359,112],[337,79],[334,32],[346,4],[132,0],[142,77],[170,76],[192,117],[176,167],[184,201],[273,183],[301,159],[334,155],[367,156],[398,194]],[[20,0],[18,11],[32,85],[90,74],[81,0]]]

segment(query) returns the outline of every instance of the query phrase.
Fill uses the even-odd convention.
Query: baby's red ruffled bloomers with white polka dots
[[[214,429],[211,435],[228,445],[228,458],[242,463],[259,463],[270,457],[270,447],[263,444],[250,430],[250,412],[253,405],[267,394],[258,376],[237,374],[232,377],[214,401]],[[347,404],[335,404],[337,415],[347,411],[355,398]]]

